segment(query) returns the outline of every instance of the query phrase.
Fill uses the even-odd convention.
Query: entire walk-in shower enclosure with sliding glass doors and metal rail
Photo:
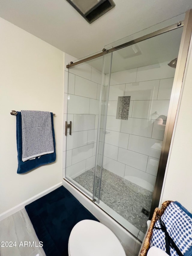
[[[65,179],[141,241],[160,200],[182,33],[183,22],[134,35],[66,72]]]

